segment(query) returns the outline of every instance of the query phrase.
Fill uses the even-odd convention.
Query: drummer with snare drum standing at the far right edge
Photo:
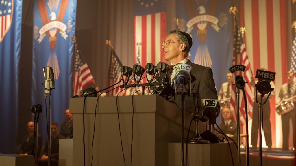
[[[289,131],[290,119],[292,121],[293,128],[293,145],[296,145],[295,140],[295,107],[296,104],[296,84],[293,81],[294,73],[288,71],[287,74],[287,83],[281,86],[279,91],[279,97],[276,100],[277,104],[280,104],[277,107],[277,113],[281,115],[282,131],[283,131],[283,150],[289,150]]]

